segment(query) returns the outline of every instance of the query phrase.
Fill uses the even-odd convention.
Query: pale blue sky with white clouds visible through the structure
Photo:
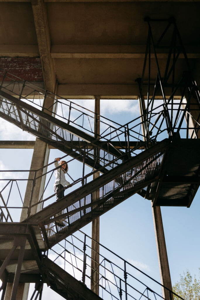
[[[78,103],[80,105],[84,103],[85,107],[88,105],[91,110],[94,110],[93,100],[81,100]],[[101,100],[101,115],[124,124],[139,115],[138,101]],[[0,126],[4,128],[0,133],[1,140],[35,139],[31,134],[22,132],[16,126],[2,119],[0,119]],[[29,170],[32,149],[0,149],[0,152],[1,170]],[[49,162],[54,161],[55,157],[63,155],[65,154],[56,149],[50,150]],[[89,168],[86,172],[89,172]],[[77,161],[69,163],[69,174],[74,179],[80,177],[82,164]],[[4,177],[1,175],[1,178]],[[53,182],[54,178],[51,180],[48,193],[53,193]],[[25,185],[22,189],[25,191]],[[199,197],[200,192],[198,191],[190,208],[161,208],[172,284],[186,269],[189,269],[192,275],[198,274],[200,267]],[[52,201],[54,200],[52,199]],[[91,225],[87,225],[82,230],[90,234]],[[149,200],[136,194],[102,215],[100,217],[100,243],[160,281]],[[30,292],[31,290],[33,290],[33,286],[31,286]],[[46,296],[49,297],[49,300],[55,297],[54,292],[47,287],[43,293],[43,299]],[[56,297],[62,299],[60,296]]]

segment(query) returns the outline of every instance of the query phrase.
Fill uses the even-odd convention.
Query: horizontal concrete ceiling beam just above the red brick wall
[[[1,0],[0,0],[1,1]],[[0,56],[38,57],[38,45],[1,44]],[[199,46],[185,46],[188,58],[200,58]],[[51,45],[51,58],[144,58],[146,45]],[[153,53],[151,57],[154,58]],[[158,58],[167,58],[163,49]],[[179,58],[184,58],[181,53]]]

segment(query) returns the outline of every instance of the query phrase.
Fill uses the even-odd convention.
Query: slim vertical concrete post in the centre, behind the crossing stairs
[[[95,137],[98,138],[100,135],[100,96],[95,97],[95,122],[94,131]],[[98,155],[98,153],[97,153]],[[99,172],[93,175],[93,179],[99,177]],[[93,193],[93,201],[99,198],[99,191]],[[92,238],[99,242],[99,218],[92,221]],[[97,295],[99,295],[99,244],[92,240],[92,253],[91,253],[91,289]],[[94,271],[95,270],[95,271]]]

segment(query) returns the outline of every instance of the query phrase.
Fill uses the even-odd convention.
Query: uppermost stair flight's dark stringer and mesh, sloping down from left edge
[[[0,90],[0,95],[4,97],[4,101],[0,99],[0,116],[3,119],[81,162],[85,156],[85,163],[95,169],[101,168],[101,173],[112,167],[104,168],[104,165],[124,155],[124,152],[116,149],[110,141],[95,139],[2,90]],[[113,162],[113,167],[121,162],[121,159]]]

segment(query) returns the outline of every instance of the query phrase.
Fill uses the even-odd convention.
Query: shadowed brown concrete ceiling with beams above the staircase
[[[136,97],[148,25],[144,17],[176,18],[194,76],[199,80],[199,1],[0,1],[2,57],[40,57],[45,88],[62,96]],[[153,35],[167,23],[154,23]],[[163,40],[169,45],[172,31]],[[161,73],[167,49],[159,49]],[[183,55],[176,79],[185,70]],[[151,80],[156,77],[151,58]],[[146,74],[147,77],[147,74]]]

